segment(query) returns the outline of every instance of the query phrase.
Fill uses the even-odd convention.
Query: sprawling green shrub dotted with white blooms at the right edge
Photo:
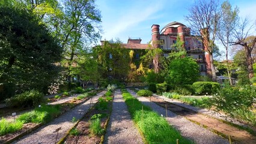
[[[226,86],[221,89],[219,95],[213,97],[212,104],[216,110],[230,113],[231,116],[236,116],[236,118],[248,121],[255,126],[255,114],[250,110],[252,104],[255,103],[255,98],[256,88],[254,86],[244,86],[243,88]]]

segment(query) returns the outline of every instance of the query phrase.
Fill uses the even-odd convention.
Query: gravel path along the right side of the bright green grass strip
[[[159,113],[159,115],[165,116],[166,112],[163,107],[158,106],[155,103],[151,103],[150,100],[147,100],[147,98],[144,97],[137,97],[136,93],[133,91],[130,91],[130,94],[132,94],[134,97],[138,98],[139,101],[141,101],[143,104],[150,106],[151,109],[153,109],[155,112]],[[170,110],[168,112],[168,118],[166,120],[169,122],[170,125],[177,128],[181,132],[181,135],[184,137],[187,137],[188,139],[194,140],[195,143],[201,144],[201,143],[207,143],[207,144],[225,144],[229,143],[228,140],[223,139],[222,137],[212,133],[209,130],[206,130],[203,127],[200,127],[197,124],[194,124],[193,122],[190,122],[189,120],[183,118],[182,116],[178,116],[175,113],[172,113]]]

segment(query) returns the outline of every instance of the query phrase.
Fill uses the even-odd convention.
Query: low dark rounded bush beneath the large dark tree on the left
[[[31,107],[43,102],[43,93],[37,90],[25,91],[5,100],[8,106]]]

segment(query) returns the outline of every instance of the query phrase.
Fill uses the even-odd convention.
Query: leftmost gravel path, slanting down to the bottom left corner
[[[105,94],[105,92],[106,91],[102,91],[94,96],[93,104],[95,104],[99,97]],[[70,130],[73,125],[75,125],[75,123],[72,123],[72,118],[75,117],[76,119],[80,119],[87,112],[87,110],[90,108],[90,101],[91,100],[85,101],[84,103],[76,106],[69,112],[66,112],[58,118],[54,119],[49,124],[38,128],[31,134],[28,134],[27,136],[22,137],[22,139],[16,140],[13,143],[55,143],[56,133],[54,133],[54,131],[56,130],[56,128],[61,127],[61,130],[59,130],[58,134],[58,142],[58,140],[60,140],[61,137],[63,137],[67,133],[67,131]]]

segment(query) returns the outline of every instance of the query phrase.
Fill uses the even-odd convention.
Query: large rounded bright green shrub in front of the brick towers
[[[190,57],[172,60],[168,70],[166,81],[171,85],[192,84],[199,76],[198,64]]]

